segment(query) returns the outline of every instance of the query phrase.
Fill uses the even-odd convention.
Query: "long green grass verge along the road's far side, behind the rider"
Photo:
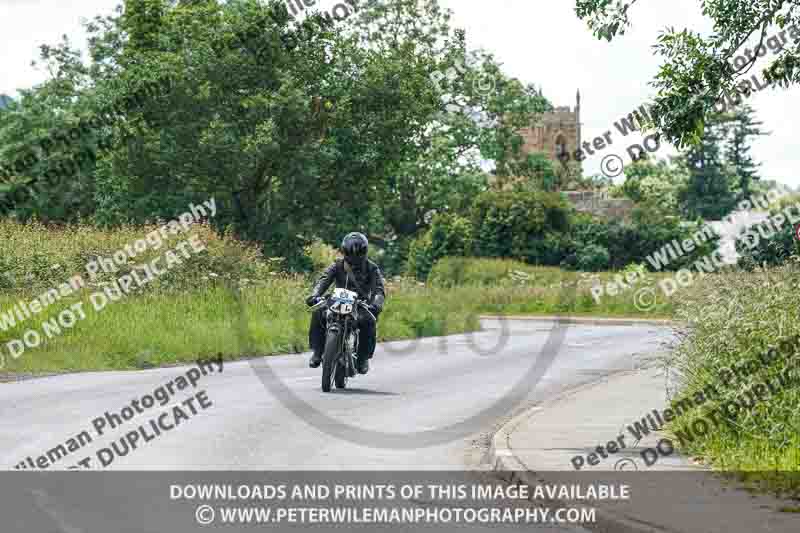
[[[537,269],[532,271],[538,272]],[[586,279],[577,273],[541,269],[543,278],[523,284],[498,280],[494,286],[441,287],[396,279],[388,286],[388,304],[378,330],[380,340],[399,340],[474,331],[481,314],[599,314],[663,316],[665,307],[641,313],[624,298],[593,301]],[[241,304],[220,283],[196,289],[152,291],[111,302],[95,311],[88,287],[57,301],[43,313],[0,332],[7,373],[39,373],[148,368],[188,362],[222,353],[227,359],[287,354],[308,349],[309,313],[303,300],[311,282],[302,277],[272,277],[241,291]],[[6,310],[39,291],[0,297]],[[47,339],[42,322],[70,304],[83,301],[86,318]],[[36,329],[44,342],[26,348],[17,359],[6,343]]]

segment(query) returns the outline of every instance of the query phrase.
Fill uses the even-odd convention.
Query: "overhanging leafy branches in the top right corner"
[[[636,2],[576,0],[575,11],[580,19],[587,20],[598,39],[611,41],[625,33],[630,8]],[[701,0],[700,3],[703,14],[714,24],[711,35],[704,37],[689,29],[668,28],[655,45],[664,61],[652,83],[658,89],[650,108],[653,125],[678,148],[699,142],[705,131],[705,117],[725,95],[740,92],[749,95],[754,90],[746,76],[765,54],[750,51],[747,59],[735,57],[751,37],[759,39],[756,51],[764,46],[765,40],[769,41],[770,49],[782,49],[762,71],[767,84],[788,87],[800,82],[800,46],[785,46],[789,39],[795,43],[800,39],[800,1]],[[773,25],[779,34],[766,39],[767,29]]]

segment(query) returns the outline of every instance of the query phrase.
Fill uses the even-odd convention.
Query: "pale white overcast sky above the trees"
[[[614,122],[654,93],[649,81],[658,71],[652,52],[659,31],[689,27],[708,31],[709,21],[699,0],[648,0],[632,10],[633,28],[613,43],[592,37],[577,19],[574,1],[559,0],[440,0],[454,12],[454,25],[467,31],[471,47],[495,54],[505,71],[523,82],[541,86],[556,106],[575,105],[581,91],[583,139],[611,131],[613,145],[584,162],[588,174],[599,172],[601,159],[611,153],[630,160],[626,148],[640,142],[623,137]],[[61,35],[85,46],[81,20],[111,14],[118,0],[0,0],[0,93],[14,96],[18,88],[42,82],[46,74],[30,63],[38,46],[55,44]],[[321,0],[330,8],[336,0]],[[764,59],[769,59],[767,55]],[[757,63],[756,67],[761,65]],[[759,69],[760,70],[760,69]],[[754,72],[755,69],[751,72]],[[800,87],[767,89],[750,103],[772,135],[759,139],[754,155],[763,163],[762,176],[793,187],[800,185]],[[659,153],[670,153],[669,148]]]

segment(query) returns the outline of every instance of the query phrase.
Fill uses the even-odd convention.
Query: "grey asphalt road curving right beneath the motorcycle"
[[[221,373],[202,376],[196,388],[174,387],[176,394],[164,407],[144,410],[114,430],[106,426],[102,436],[93,420],[106,411],[121,413],[132,400],[186,375],[189,367],[0,384],[0,465],[13,469],[27,457],[35,462],[59,444],[68,448],[69,439],[85,431],[92,441],[78,449],[73,443],[73,450],[48,468],[91,457],[90,465],[103,469],[97,450],[113,452],[116,442],[124,452],[120,438],[142,425],[146,431],[136,449],[116,453],[113,460],[106,453],[105,469],[477,469],[488,436],[514,412],[629,370],[643,354],[663,352],[672,338],[667,328],[652,325],[573,324],[560,343],[554,342],[559,335],[552,323],[515,320],[501,327],[488,320],[484,327],[474,336],[382,344],[367,376],[329,394],[320,390],[320,371],[308,368],[308,354],[226,362]],[[549,355],[543,351],[548,342]],[[498,343],[503,347],[491,350]],[[530,371],[544,358],[552,363],[537,382]],[[522,394],[511,394],[515,385]],[[201,390],[205,396],[193,401],[194,414],[181,402]],[[187,416],[174,420],[173,406]],[[490,416],[476,418],[491,406]],[[162,411],[173,413],[165,424],[178,425],[155,435],[148,422]],[[151,440],[143,442],[148,434]]]

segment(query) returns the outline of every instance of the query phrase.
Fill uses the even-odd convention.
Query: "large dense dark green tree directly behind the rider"
[[[314,236],[335,241],[343,226],[368,224],[363,206],[377,199],[379,176],[430,113],[416,97],[424,69],[407,48],[356,46],[347,36],[355,19],[288,48],[280,36],[292,29],[278,9],[247,0],[165,13],[159,49],[137,57],[175,72],[176,83],[161,123],[138,131],[139,146],[122,147],[101,177],[116,210],[130,205],[114,217],[163,212],[174,190],[213,192],[224,199],[220,223],[295,268],[310,266],[299,252]],[[192,54],[171,52],[187,46]],[[203,68],[192,68],[198,60]]]

